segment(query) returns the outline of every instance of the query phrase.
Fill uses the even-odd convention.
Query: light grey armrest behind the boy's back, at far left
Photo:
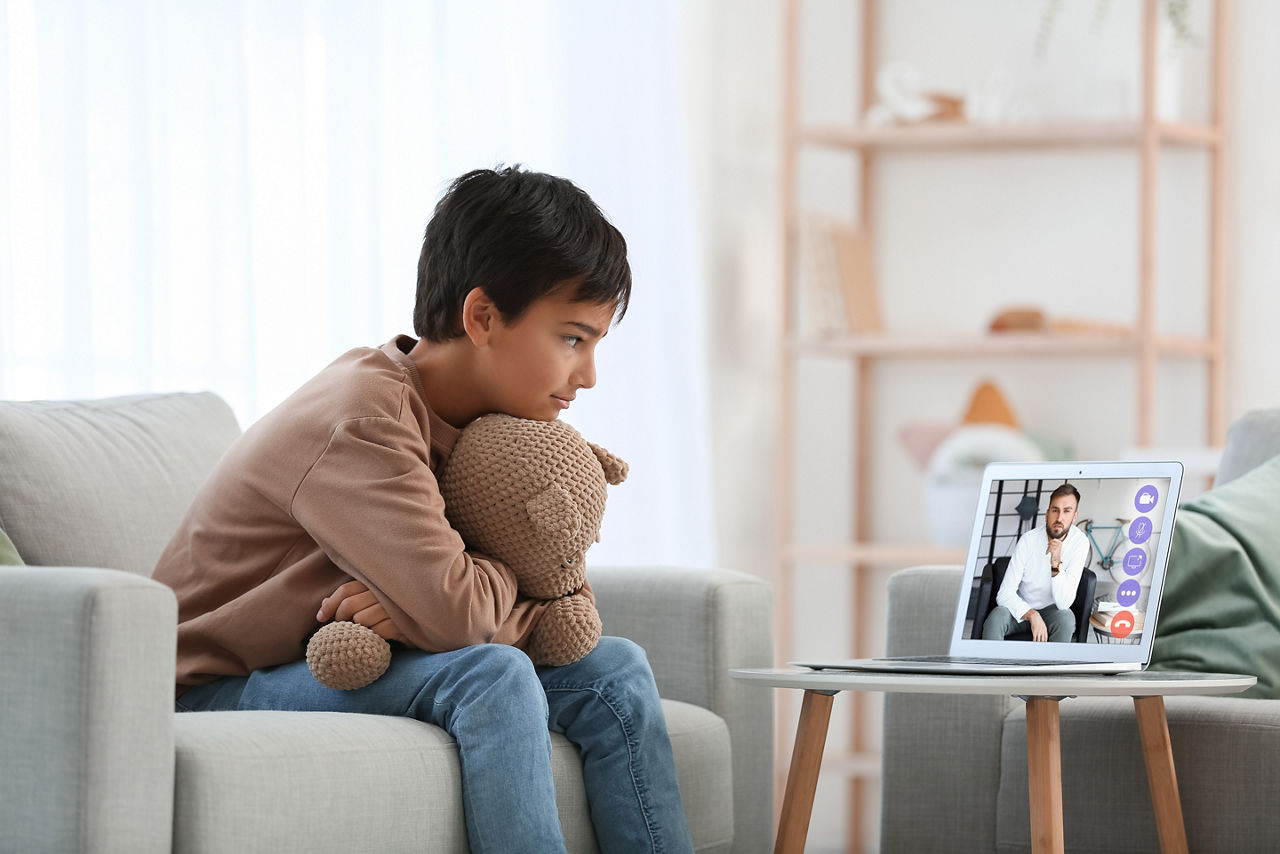
[[[0,567],[0,827],[15,851],[169,851],[178,608],[116,570]]]

